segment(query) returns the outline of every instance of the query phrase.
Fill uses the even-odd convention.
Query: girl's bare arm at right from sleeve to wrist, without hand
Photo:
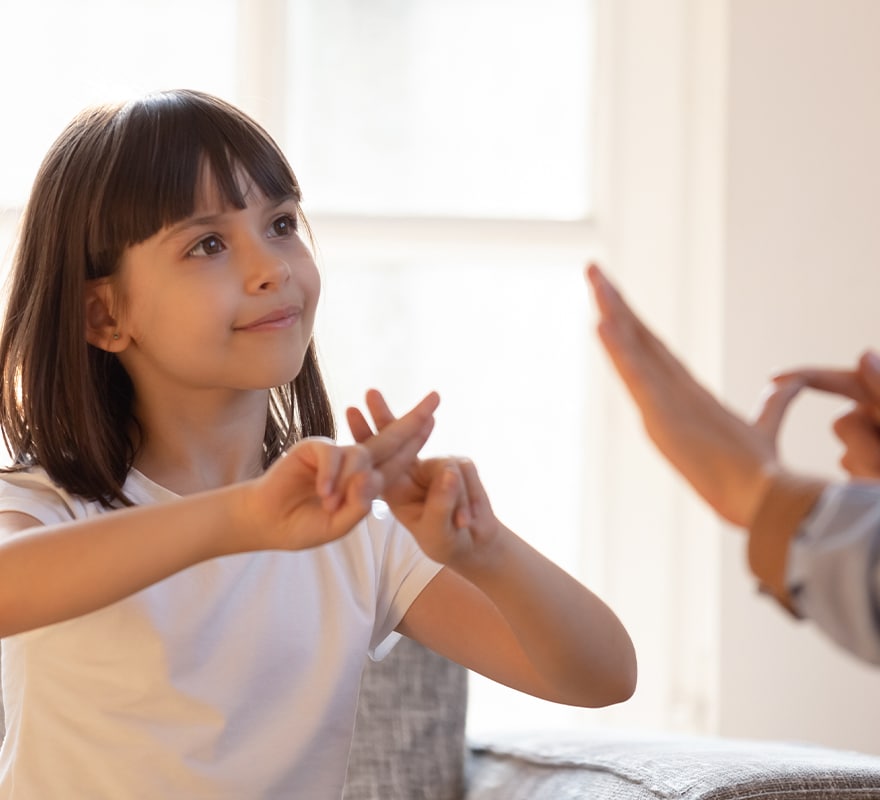
[[[608,606],[506,528],[492,550],[486,563],[441,570],[398,630],[545,700],[595,708],[628,699],[635,652]]]

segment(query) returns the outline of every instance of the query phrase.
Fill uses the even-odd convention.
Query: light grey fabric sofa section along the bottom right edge
[[[880,797],[880,758],[807,744],[602,731],[472,746],[468,800]]]

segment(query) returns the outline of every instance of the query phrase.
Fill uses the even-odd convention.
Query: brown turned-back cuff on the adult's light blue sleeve
[[[786,584],[786,561],[792,540],[825,488],[823,481],[780,473],[761,499],[749,527],[749,568],[761,591],[797,616]]]

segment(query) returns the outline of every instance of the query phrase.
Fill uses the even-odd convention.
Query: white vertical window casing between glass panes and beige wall
[[[608,0],[610,140],[599,215],[606,266],[630,301],[717,388],[726,125],[724,0]],[[598,344],[594,342],[594,350]],[[600,354],[595,420],[603,580],[639,686],[603,721],[712,732],[720,525],[648,444]]]

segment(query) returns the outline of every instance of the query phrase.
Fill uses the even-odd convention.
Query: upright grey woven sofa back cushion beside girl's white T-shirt
[[[361,682],[345,800],[460,800],[467,671],[403,638]]]

